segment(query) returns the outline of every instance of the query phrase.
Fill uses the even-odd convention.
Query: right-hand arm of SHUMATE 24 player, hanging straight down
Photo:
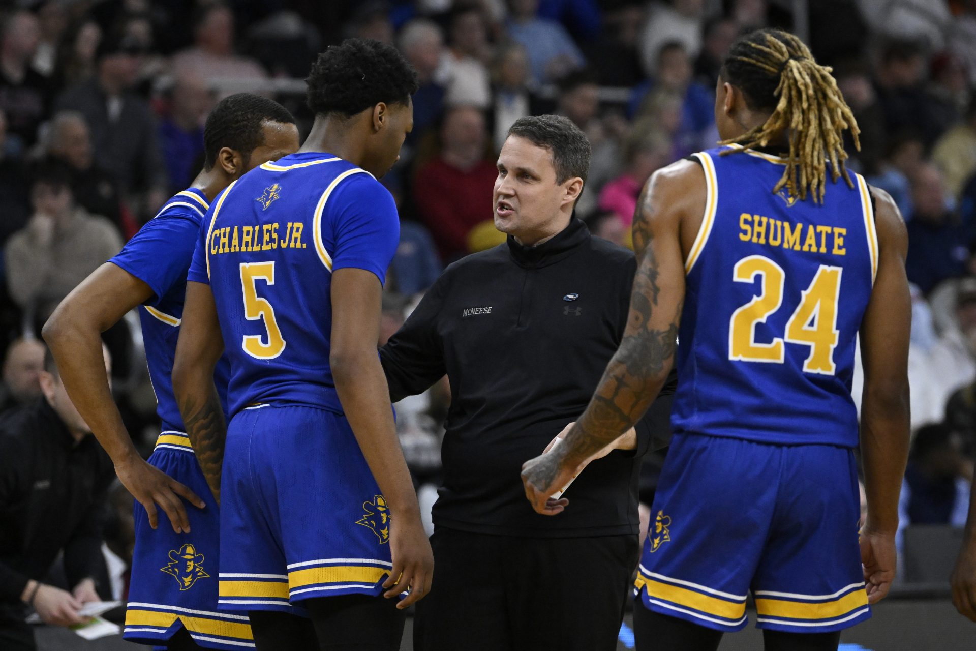
[[[876,603],[895,578],[898,498],[909,452],[912,297],[905,272],[905,223],[887,192],[873,187],[872,195],[879,252],[874,289],[861,324],[861,454],[868,496],[861,559],[869,601]]]

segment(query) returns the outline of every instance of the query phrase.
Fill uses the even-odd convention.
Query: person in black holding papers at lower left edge
[[[111,363],[105,352],[105,368]],[[53,626],[85,623],[82,605],[101,601],[105,574],[105,497],[111,460],[78,415],[50,353],[40,374],[43,396],[0,422],[0,640],[33,649],[29,606]],[[47,581],[61,555],[66,587]]]

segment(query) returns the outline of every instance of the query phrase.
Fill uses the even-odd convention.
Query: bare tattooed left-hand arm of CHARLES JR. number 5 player
[[[223,353],[224,337],[210,285],[190,281],[173,362],[173,392],[193,452],[218,504],[227,427],[214,369]]]

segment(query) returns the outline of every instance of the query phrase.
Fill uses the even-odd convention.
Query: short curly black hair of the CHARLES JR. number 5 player
[[[380,102],[409,103],[417,72],[391,45],[347,38],[319,54],[305,83],[305,103],[313,113],[351,117]]]

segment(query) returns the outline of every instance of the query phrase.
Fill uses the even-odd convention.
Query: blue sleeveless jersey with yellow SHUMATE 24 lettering
[[[868,184],[827,183],[822,204],[773,193],[785,161],[695,154],[707,208],[685,264],[675,432],[858,444],[854,347],[877,270]]]

